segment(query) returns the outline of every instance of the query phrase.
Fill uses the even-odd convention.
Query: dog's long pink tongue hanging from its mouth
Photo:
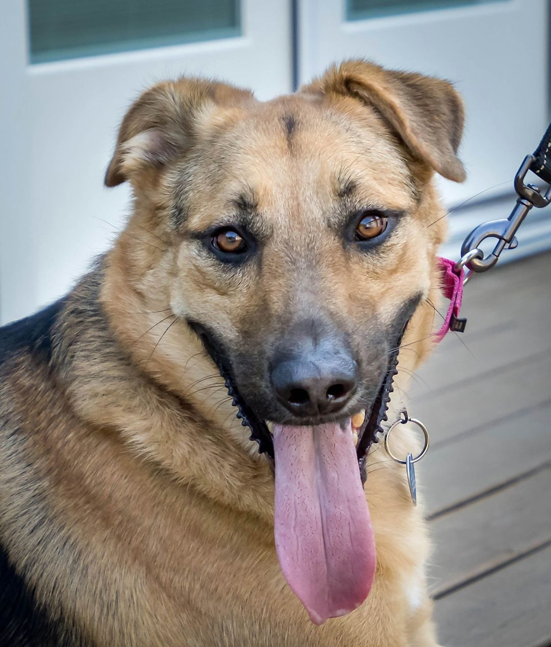
[[[274,426],[275,549],[283,575],[322,624],[369,594],[375,542],[350,423]]]

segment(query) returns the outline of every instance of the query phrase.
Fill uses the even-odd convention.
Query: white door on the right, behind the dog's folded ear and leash
[[[507,217],[515,171],[546,129],[548,30],[547,0],[302,0],[298,76],[307,82],[336,60],[363,57],[455,82],[466,103],[468,181],[440,187],[449,207],[486,200],[484,212],[451,218],[446,252],[457,256],[481,219]],[[550,216],[532,210],[518,251],[503,257],[550,245]]]

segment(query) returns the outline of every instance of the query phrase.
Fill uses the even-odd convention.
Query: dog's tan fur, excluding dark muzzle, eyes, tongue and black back
[[[50,367],[19,353],[0,382],[1,539],[52,617],[109,647],[436,644],[422,505],[380,445],[365,486],[371,594],[350,615],[308,620],[275,555],[270,466],[186,318],[253,347],[321,295],[351,329],[386,325],[416,292],[436,302],[445,227],[431,176],[462,179],[461,128],[448,83],[362,61],[266,104],[179,80],[131,107],[106,175],[133,185],[129,223],[67,299]],[[406,212],[376,255],[327,234],[343,173],[366,203]],[[261,271],[237,280],[189,234],[250,188],[270,242]],[[394,412],[431,349],[433,314],[422,300],[407,329]],[[400,433],[405,454],[416,441]]]

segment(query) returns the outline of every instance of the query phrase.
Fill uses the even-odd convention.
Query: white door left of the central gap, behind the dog
[[[203,74],[292,89],[286,0],[3,0],[0,321],[64,294],[129,209],[103,173],[147,85]],[[107,221],[107,224],[103,221]]]

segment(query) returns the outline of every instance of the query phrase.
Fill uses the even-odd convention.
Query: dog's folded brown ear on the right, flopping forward
[[[464,181],[457,157],[464,110],[451,83],[351,60],[331,67],[301,91],[351,96],[373,105],[415,158],[449,180]]]

